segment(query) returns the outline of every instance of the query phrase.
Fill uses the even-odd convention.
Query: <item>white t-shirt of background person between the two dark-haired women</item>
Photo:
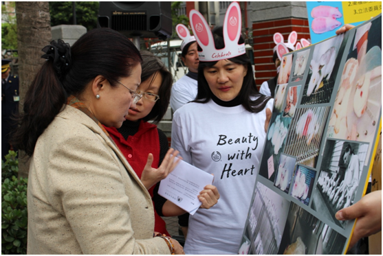
[[[173,84],[171,89],[171,108],[175,112],[184,104],[195,100],[198,91],[197,80],[184,75]]]

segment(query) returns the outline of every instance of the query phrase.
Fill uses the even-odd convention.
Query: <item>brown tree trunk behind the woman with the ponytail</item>
[[[17,43],[19,51],[19,111],[25,93],[43,64],[41,49],[52,40],[49,2],[16,2]],[[28,177],[29,157],[19,150],[19,176]]]

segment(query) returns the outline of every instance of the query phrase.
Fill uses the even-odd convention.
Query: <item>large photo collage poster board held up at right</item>
[[[382,129],[382,14],[283,56],[239,254],[342,254]]]

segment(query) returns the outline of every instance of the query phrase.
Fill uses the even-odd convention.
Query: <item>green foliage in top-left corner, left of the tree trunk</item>
[[[14,8],[14,2],[8,2]],[[1,5],[1,50],[17,49],[17,24],[14,13],[8,13],[6,5]]]

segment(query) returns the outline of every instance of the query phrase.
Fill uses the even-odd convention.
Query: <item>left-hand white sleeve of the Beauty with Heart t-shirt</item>
[[[179,151],[179,155],[186,163],[191,164],[190,147],[188,146],[189,135],[187,125],[182,124],[180,112],[174,113],[171,130],[171,147]]]

